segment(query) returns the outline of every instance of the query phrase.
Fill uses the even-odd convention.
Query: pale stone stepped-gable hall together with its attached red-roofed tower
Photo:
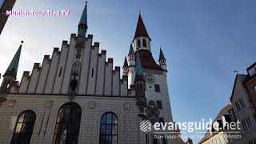
[[[154,139],[139,124],[172,122],[166,58],[151,54],[150,37],[139,14],[122,79],[120,67],[87,30],[87,5],[78,35],[45,55],[16,80],[22,45],[3,75],[0,91],[0,143],[179,144],[182,139]]]

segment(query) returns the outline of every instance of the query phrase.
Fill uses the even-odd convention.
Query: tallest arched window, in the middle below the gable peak
[[[58,110],[54,144],[78,143],[81,115],[81,107],[74,102],[66,103]]]

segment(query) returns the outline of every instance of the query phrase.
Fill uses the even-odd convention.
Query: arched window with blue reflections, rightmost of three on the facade
[[[114,113],[107,112],[102,115],[99,132],[99,144],[118,143],[118,118]]]

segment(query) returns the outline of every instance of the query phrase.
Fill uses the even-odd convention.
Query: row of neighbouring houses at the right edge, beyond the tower
[[[230,105],[226,106],[219,114],[228,114],[231,121],[241,122],[241,138],[227,138],[230,134],[225,130],[218,131],[216,134],[206,135],[202,139],[202,144],[208,143],[231,143],[231,144],[256,144],[256,62],[247,68],[248,74],[237,74],[230,97]],[[217,119],[219,119],[217,117]],[[207,138],[208,137],[208,138]],[[224,139],[219,141],[218,139]]]

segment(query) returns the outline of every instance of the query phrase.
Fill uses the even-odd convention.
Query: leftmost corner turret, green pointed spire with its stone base
[[[23,41],[22,41],[23,43]],[[6,73],[3,74],[3,80],[2,80],[2,85],[0,87],[0,92],[6,93],[8,92],[8,88],[10,87],[11,83],[16,80],[17,72],[18,72],[18,62],[19,58],[21,56],[22,52],[22,43],[18,47],[18,50],[16,54],[14,55],[14,58],[10,62],[10,65],[8,66]]]

